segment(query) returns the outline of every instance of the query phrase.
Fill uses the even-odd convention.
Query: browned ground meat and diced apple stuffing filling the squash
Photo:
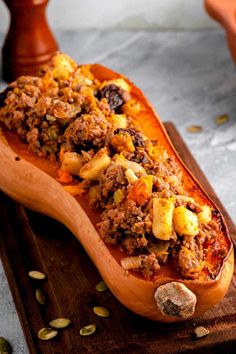
[[[64,54],[0,94],[1,124],[33,153],[59,161],[58,181],[100,211],[104,242],[133,257],[126,270],[154,279],[174,262],[184,279],[214,279],[227,254],[217,239],[221,217],[185,190],[158,137],[143,134],[142,109],[125,79],[100,82]]]

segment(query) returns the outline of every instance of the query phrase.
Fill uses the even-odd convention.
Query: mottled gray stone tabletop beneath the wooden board
[[[175,123],[236,220],[236,71],[223,31],[91,30],[56,35],[61,50],[78,62],[107,65],[144,91],[162,120]],[[217,126],[214,119],[223,113],[230,120]],[[203,132],[188,133],[186,127],[192,124],[202,125]],[[0,336],[11,340],[15,353],[27,354],[1,265],[0,318]]]

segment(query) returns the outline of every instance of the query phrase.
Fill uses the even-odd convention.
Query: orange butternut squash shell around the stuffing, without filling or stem
[[[98,77],[100,80],[123,77],[98,64],[93,65],[91,71],[94,73],[95,77]],[[138,100],[145,107],[145,110],[142,111],[140,117],[138,117],[142,122],[144,133],[151,139],[158,135],[158,139],[167,148],[168,153],[174,155],[179,160],[182,164],[185,179],[189,184],[189,189],[192,191],[193,197],[197,198],[197,200],[209,201],[210,204],[217,209],[192,176],[191,172],[178,157],[165,128],[152,106],[137,87],[126,78],[125,80],[130,84],[133,96],[138,97]],[[215,280],[180,280],[176,279],[174,276],[171,277],[162,274],[152,282],[131,273],[126,275],[118,260],[101,240],[93,223],[78,201],[67,193],[54,178],[32,163],[23,158],[16,161],[16,152],[14,152],[13,149],[8,144],[4,133],[1,132],[1,189],[26,207],[49,215],[65,224],[79,239],[113,294],[130,310],[141,316],[162,322],[186,320],[180,317],[165,316],[157,308],[154,293],[157,287],[170,281],[180,281],[196,295],[197,304],[192,317],[204,313],[224,297],[232,278],[234,258],[232,242],[230,241],[223,217],[222,223],[230,246],[228,256],[225,258]],[[80,216],[79,218],[78,215]]]

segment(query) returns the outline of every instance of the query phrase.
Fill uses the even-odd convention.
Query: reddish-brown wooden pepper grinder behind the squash
[[[48,0],[4,0],[11,14],[2,49],[3,79],[35,75],[58,50],[46,19]]]

